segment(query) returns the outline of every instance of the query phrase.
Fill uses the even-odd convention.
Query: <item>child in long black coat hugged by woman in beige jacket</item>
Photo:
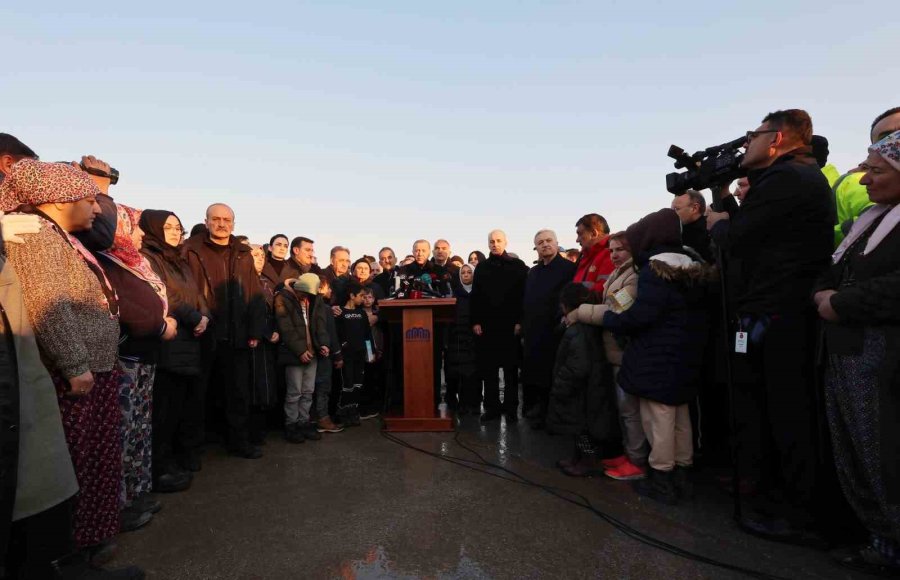
[[[577,311],[591,296],[586,286],[570,282],[560,291],[562,311],[566,315]],[[604,457],[622,453],[615,395],[603,373],[600,332],[573,322],[556,351],[547,410],[547,431],[575,438],[575,458],[557,463],[566,475],[599,475]]]

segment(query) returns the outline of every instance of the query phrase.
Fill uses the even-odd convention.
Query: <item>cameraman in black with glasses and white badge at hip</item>
[[[770,113],[747,133],[743,203],[723,188],[707,225],[723,249],[741,473],[759,496],[783,498],[746,513],[746,531],[817,543],[813,282],[829,264],[833,202],[812,156],[806,111]],[[737,482],[736,482],[737,484]],[[766,515],[761,515],[761,511]]]

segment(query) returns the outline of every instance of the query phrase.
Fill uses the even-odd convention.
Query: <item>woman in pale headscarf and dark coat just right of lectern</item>
[[[471,298],[475,266],[463,264],[459,269],[459,283],[453,285],[456,310],[453,323],[447,329],[447,403],[459,397],[460,415],[481,414],[481,379],[475,355],[475,333],[472,332]]]

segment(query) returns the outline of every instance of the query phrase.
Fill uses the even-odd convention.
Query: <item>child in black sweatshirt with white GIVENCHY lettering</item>
[[[337,317],[338,336],[344,356],[338,417],[345,425],[359,425],[359,396],[366,364],[366,341],[372,342],[372,327],[363,305],[363,287],[351,279],[347,283],[347,302]],[[370,347],[371,348],[371,347]]]

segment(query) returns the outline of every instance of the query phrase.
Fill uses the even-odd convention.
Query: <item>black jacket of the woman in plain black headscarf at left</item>
[[[194,337],[194,329],[204,316],[210,316],[204,292],[194,280],[187,260],[174,248],[164,248],[145,237],[141,254],[166,285],[169,316],[178,322],[175,338],[162,343],[158,368],[177,375],[197,376],[201,368],[201,339]]]

